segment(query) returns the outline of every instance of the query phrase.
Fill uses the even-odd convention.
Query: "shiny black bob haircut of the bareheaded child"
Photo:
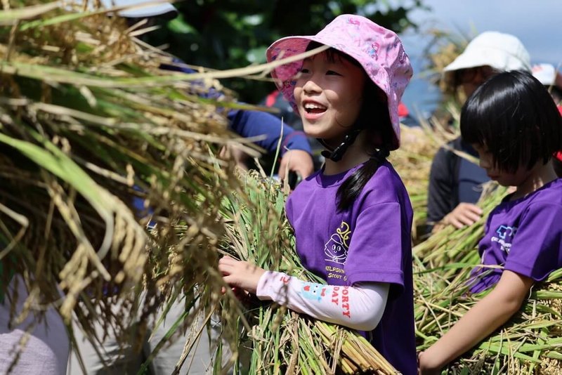
[[[562,117],[528,72],[502,72],[485,81],[464,103],[460,124],[462,138],[485,146],[495,167],[508,173],[546,164],[562,149]]]

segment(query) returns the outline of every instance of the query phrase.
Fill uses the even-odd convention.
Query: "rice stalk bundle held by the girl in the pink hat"
[[[226,254],[268,270],[323,282],[304,269],[296,255],[280,185],[257,172],[242,176],[242,185],[244,194],[227,197],[221,209],[227,226]],[[230,291],[227,295],[231,298],[225,303],[237,303]],[[245,320],[240,324],[237,349],[242,354],[249,351],[249,360],[247,364],[237,360],[236,367],[243,367],[249,374],[396,373],[364,337],[351,329],[313,320],[272,303],[254,301],[242,309]]]

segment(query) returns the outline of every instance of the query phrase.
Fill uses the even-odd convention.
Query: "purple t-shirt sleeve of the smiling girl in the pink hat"
[[[345,265],[351,285],[388,282],[404,285],[402,210],[398,202],[374,204],[358,216]],[[408,237],[409,238],[409,237]],[[410,262],[410,267],[412,266]]]

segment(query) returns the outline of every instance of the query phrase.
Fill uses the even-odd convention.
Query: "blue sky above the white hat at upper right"
[[[562,65],[562,0],[424,0],[424,4],[431,11],[410,13],[420,32],[401,36],[414,72],[421,70],[421,52],[429,40],[423,32],[432,27],[472,37],[491,30],[514,34],[529,51],[532,63]],[[425,111],[431,110],[428,103],[436,96],[436,88],[414,75],[404,101],[409,107]]]

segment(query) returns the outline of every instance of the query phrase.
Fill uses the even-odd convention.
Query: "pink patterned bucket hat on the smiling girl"
[[[400,145],[398,103],[413,73],[410,58],[398,35],[360,15],[339,15],[316,35],[275,41],[268,48],[268,62],[303,53],[311,41],[330,46],[357,60],[367,76],[384,91],[395,136],[391,150],[396,150]],[[302,65],[302,60],[289,62],[271,72],[277,88],[295,110],[293,88]]]

